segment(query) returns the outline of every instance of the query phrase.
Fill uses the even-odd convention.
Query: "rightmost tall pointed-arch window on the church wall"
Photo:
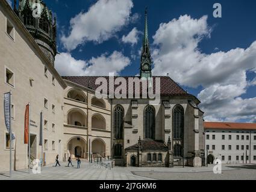
[[[173,109],[173,139],[183,139],[184,109],[178,105]]]

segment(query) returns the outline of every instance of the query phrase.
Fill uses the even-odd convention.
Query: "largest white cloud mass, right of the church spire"
[[[246,71],[256,69],[256,41],[247,49],[202,53],[198,44],[210,37],[207,16],[180,16],[161,23],[154,35],[154,75],[169,73],[181,85],[198,87],[206,120],[240,121],[255,118],[256,98],[242,99],[248,86]],[[254,107],[254,108],[253,108]]]

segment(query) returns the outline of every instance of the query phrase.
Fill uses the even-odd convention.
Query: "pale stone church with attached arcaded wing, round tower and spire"
[[[204,164],[200,101],[168,76],[152,76],[148,13],[140,60],[140,78],[160,79],[160,103],[150,98],[98,98],[96,80],[104,76],[64,76],[54,68],[56,19],[39,0],[41,17],[33,17],[32,0],[14,0],[14,10],[0,2],[0,90],[13,91],[14,169],[27,166],[23,143],[25,106],[31,104],[31,156],[53,163],[69,155],[87,160],[109,158],[118,166],[195,166]],[[138,64],[139,66],[139,64]],[[170,74],[171,76],[171,74]],[[110,83],[110,77],[104,77]],[[128,82],[129,77],[123,77]],[[117,76],[114,77],[117,79]],[[114,87],[116,88],[116,87]],[[128,89],[128,88],[127,88]],[[3,100],[3,98],[1,98]],[[0,102],[0,108],[3,107]],[[39,146],[40,112],[43,146]],[[10,136],[0,118],[0,157],[8,167]],[[10,148],[10,147],[9,147]],[[5,160],[6,159],[6,160]]]

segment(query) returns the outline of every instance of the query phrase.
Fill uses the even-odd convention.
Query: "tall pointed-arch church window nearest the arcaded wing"
[[[114,109],[114,139],[123,139],[123,108]]]

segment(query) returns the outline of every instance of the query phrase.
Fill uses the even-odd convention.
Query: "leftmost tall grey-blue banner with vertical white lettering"
[[[8,133],[10,134],[10,123],[11,123],[11,94],[10,92],[7,92],[4,94],[4,121],[5,126],[7,128]],[[15,137],[13,133],[11,133],[11,140],[14,140]]]

